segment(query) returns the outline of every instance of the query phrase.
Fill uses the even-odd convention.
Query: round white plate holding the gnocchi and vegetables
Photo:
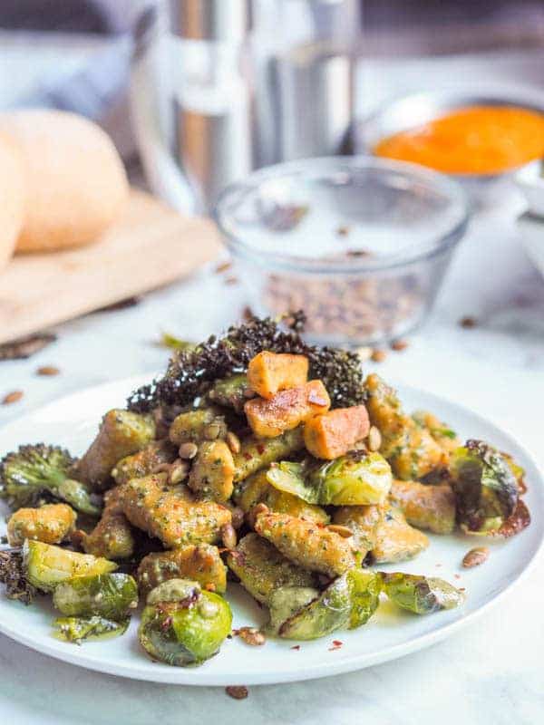
[[[147,380],[147,379],[146,379]],[[104,411],[124,403],[128,393],[141,384],[141,378],[114,382],[70,395],[11,425],[0,435],[0,454],[20,443],[45,440],[60,443],[74,454],[81,453],[92,440]],[[0,597],[0,631],[17,642],[65,662],[99,672],[147,681],[188,685],[267,684],[309,680],[350,672],[378,662],[386,662],[415,652],[446,636],[458,633],[465,624],[496,603],[520,579],[535,557],[543,536],[543,479],[520,445],[491,422],[430,393],[399,387],[407,410],[429,409],[447,420],[461,437],[489,440],[508,450],[527,471],[529,492],[526,501],[532,516],[529,528],[507,542],[486,542],[491,547],[489,561],[475,569],[462,570],[461,558],[480,539],[468,536],[431,536],[432,543],[413,562],[384,566],[384,569],[442,576],[467,590],[467,602],[451,612],[418,617],[398,613],[384,603],[370,623],[353,632],[337,632],[316,642],[300,643],[268,640],[264,647],[250,647],[235,637],[223,644],[221,652],[196,669],[182,669],[151,662],[141,651],[136,629],[138,617],[124,636],[103,643],[77,647],[51,636],[53,609],[46,603],[24,607]],[[237,585],[228,599],[233,605],[234,626],[258,624],[263,614]],[[331,650],[332,641],[343,646]]]

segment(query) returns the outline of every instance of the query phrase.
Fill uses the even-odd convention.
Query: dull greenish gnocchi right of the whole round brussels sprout
[[[315,588],[316,575],[290,562],[275,546],[257,534],[248,534],[228,553],[228,567],[257,602],[269,604],[282,587]]]

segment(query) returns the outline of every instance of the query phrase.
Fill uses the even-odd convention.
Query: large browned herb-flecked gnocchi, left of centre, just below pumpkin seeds
[[[165,546],[215,544],[221,527],[231,522],[231,513],[215,501],[194,501],[191,496],[185,486],[170,487],[164,473],[133,478],[121,486],[119,494],[132,526],[156,536]]]

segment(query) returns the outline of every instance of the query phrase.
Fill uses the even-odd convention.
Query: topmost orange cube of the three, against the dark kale
[[[300,388],[308,379],[308,364],[304,355],[267,353],[264,350],[249,362],[249,387],[268,400],[278,391]]]

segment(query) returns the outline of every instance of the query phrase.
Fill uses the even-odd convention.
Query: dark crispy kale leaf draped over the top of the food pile
[[[305,343],[300,336],[304,321],[304,314],[298,312],[291,315],[284,329],[269,317],[251,317],[245,324],[229,327],[223,337],[212,335],[193,350],[181,350],[172,357],[163,377],[131,394],[129,410],[149,412],[160,406],[187,405],[209,391],[212,382],[246,371],[251,358],[262,350],[306,355],[310,378],[325,383],[333,407],[364,402],[359,356]]]

